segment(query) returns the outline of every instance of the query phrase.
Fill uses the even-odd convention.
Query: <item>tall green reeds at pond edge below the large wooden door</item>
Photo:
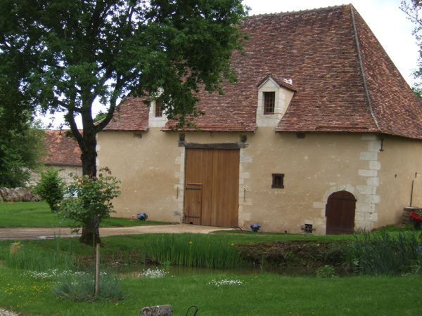
[[[155,235],[146,243],[146,256],[158,263],[203,268],[238,268],[240,251],[226,237],[207,235]]]

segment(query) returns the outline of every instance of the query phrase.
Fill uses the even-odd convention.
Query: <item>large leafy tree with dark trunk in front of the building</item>
[[[66,113],[82,171],[94,178],[96,133],[119,100],[160,98],[184,124],[198,114],[199,88],[222,92],[235,79],[229,63],[246,11],[241,0],[0,0],[0,77],[11,74],[21,104]],[[108,108],[98,124],[94,100]],[[85,223],[82,241],[98,235],[96,221]]]

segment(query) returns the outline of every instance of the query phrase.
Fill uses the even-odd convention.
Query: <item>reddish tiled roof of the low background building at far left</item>
[[[46,130],[44,136],[46,157],[42,162],[53,166],[82,166],[81,151],[76,140],[65,136],[66,131]]]

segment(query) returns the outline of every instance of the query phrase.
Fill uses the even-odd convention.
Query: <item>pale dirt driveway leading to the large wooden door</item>
[[[198,225],[156,225],[156,226],[132,226],[119,228],[100,228],[101,237],[115,235],[136,235],[153,233],[181,234],[190,232],[195,234],[208,234],[216,230],[231,230],[231,228],[219,228]],[[47,239],[54,236],[77,237],[72,234],[70,228],[0,228],[1,239]]]

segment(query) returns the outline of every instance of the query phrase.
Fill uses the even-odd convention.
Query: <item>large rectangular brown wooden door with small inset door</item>
[[[184,223],[238,225],[239,150],[186,148]]]

